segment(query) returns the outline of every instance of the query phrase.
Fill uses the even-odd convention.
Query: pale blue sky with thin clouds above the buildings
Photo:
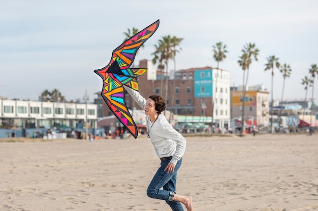
[[[242,49],[255,43],[258,61],[249,67],[247,85],[263,84],[271,91],[269,56],[290,64],[284,100],[304,99],[301,79],[318,64],[318,1],[316,0],[0,0],[0,96],[38,100],[44,90],[58,89],[65,98],[92,102],[103,81],[93,70],[106,66],[124,32],[139,30],[160,19],[157,31],[139,49],[139,60],[151,55],[163,36],[183,38],[176,69],[211,66],[212,46],[227,45],[219,68],[230,72],[231,86],[240,86]],[[169,62],[173,69],[173,62]],[[274,69],[273,98],[281,99],[283,77]],[[140,89],[143,89],[140,85]],[[311,98],[308,90],[307,99]],[[318,102],[318,79],[314,99]]]

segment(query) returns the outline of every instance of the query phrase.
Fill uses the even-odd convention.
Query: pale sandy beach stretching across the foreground
[[[194,211],[317,210],[318,135],[186,137],[177,191]],[[149,140],[0,141],[0,210],[161,210]]]

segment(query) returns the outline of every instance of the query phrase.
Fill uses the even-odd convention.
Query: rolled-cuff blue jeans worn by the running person
[[[150,198],[166,200],[166,203],[170,205],[173,211],[183,211],[182,204],[178,201],[173,201],[174,193],[176,193],[177,172],[181,166],[182,158],[178,160],[174,167],[174,172],[168,174],[167,171],[165,172],[165,168],[170,160],[161,161],[160,167],[148,186],[147,195]]]

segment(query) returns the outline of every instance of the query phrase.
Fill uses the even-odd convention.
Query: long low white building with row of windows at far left
[[[87,118],[89,128],[97,128],[97,105],[0,100],[1,128],[53,128],[65,125],[83,127]]]

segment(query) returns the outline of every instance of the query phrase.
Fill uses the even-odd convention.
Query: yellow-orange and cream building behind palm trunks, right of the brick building
[[[269,92],[264,85],[246,87],[244,105],[244,122],[247,130],[269,125]],[[231,88],[231,114],[236,121],[235,128],[240,130],[242,120],[243,91],[242,87]]]

